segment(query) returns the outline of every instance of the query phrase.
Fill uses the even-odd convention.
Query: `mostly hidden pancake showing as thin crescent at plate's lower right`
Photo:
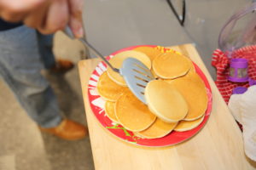
[[[177,127],[174,128],[177,132],[184,132],[191,130],[195,127],[198,127],[201,122],[204,120],[205,116],[201,116],[199,119],[196,119],[195,121],[180,121],[177,124]]]

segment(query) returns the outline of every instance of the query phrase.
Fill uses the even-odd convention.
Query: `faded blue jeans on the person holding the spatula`
[[[41,75],[55,63],[51,48],[52,37],[26,26],[0,31],[0,77],[41,127],[55,127],[62,120],[55,94]]]

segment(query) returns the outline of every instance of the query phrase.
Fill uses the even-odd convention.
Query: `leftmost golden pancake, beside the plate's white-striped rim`
[[[119,96],[124,93],[128,88],[119,86],[117,83],[113,82],[104,71],[99,78],[97,83],[97,92],[103,99],[108,101],[116,101]]]

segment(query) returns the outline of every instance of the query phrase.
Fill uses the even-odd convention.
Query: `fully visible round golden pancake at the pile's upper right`
[[[174,79],[188,73],[191,61],[181,54],[167,53],[155,57],[152,67],[158,77]]]

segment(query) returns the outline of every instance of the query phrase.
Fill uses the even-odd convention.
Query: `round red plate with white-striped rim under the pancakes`
[[[108,56],[107,59],[110,59],[113,55],[119,54],[120,52],[126,51],[126,50],[131,50],[133,48],[137,47],[143,47],[143,46],[134,46],[130,48],[123,48],[120,49],[119,51],[111,54]],[[152,47],[152,48],[158,48],[162,52],[166,52],[167,50],[170,51],[170,49],[163,48],[160,46],[152,46],[152,45],[147,45],[147,47]],[[173,51],[173,50],[172,50]],[[175,51],[174,51],[175,52]],[[178,52],[175,52],[178,53]],[[108,116],[105,115],[104,111],[104,104],[105,101],[102,99],[99,94],[96,92],[96,84],[97,81],[102,74],[103,71],[106,71],[107,65],[102,61],[99,63],[99,65],[96,66],[95,71],[93,71],[90,81],[89,81],[89,87],[88,87],[88,97],[90,101],[90,108],[94,115],[96,116],[96,119],[102,124],[104,128],[106,128],[110,133],[113,133],[114,136],[118,137],[119,139],[125,140],[128,143],[131,144],[137,144],[137,145],[143,145],[143,146],[150,146],[150,147],[160,147],[160,146],[169,146],[172,144],[178,144],[183,142],[184,140],[190,139],[193,137],[196,133],[198,133],[202,127],[206,124],[211,111],[212,111],[212,90],[209,85],[209,82],[207,81],[207,77],[204,75],[204,73],[201,71],[201,69],[195,65],[195,71],[199,74],[201,79],[204,81],[206,87],[207,87],[207,96],[208,96],[208,105],[207,105],[207,111],[205,113],[205,118],[203,122],[198,127],[195,127],[192,130],[186,131],[186,132],[175,132],[173,131],[172,133],[169,133],[163,138],[160,139],[141,139],[137,136],[134,135],[129,130],[126,130],[124,127],[122,127],[119,124],[116,124],[112,122]]]

